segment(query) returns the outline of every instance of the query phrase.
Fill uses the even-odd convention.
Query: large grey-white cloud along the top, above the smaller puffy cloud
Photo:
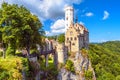
[[[8,3],[24,5],[42,20],[64,17],[65,5],[80,4],[82,0],[5,0]]]

